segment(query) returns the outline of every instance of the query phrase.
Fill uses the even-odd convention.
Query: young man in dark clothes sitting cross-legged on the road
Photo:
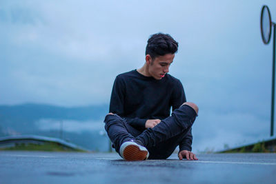
[[[112,146],[127,161],[167,159],[177,145],[179,160],[197,160],[190,152],[197,105],[186,102],[181,82],[168,74],[177,48],[169,34],[153,34],[144,66],[115,79],[104,122]]]

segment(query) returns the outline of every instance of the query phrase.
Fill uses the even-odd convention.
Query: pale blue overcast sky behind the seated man
[[[115,76],[144,64],[150,34],[179,42],[170,74],[199,105],[195,149],[270,133],[275,1],[0,1],[0,104],[108,104]]]

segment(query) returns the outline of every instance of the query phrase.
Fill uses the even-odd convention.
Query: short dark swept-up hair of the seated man
[[[170,34],[156,33],[152,34],[148,39],[146,54],[149,54],[152,60],[154,60],[155,57],[175,54],[177,48],[178,43],[170,37]]]

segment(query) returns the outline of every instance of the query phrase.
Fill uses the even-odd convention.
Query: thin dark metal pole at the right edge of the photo
[[[273,136],[274,130],[274,96],[275,96],[275,28],[273,23],[273,68],[272,68],[272,94],[271,94],[271,118],[270,118],[270,136]]]

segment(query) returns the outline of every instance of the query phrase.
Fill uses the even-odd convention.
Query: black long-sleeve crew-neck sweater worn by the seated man
[[[170,108],[175,110],[186,102],[184,88],[175,77],[166,74],[156,80],[132,70],[119,74],[114,82],[109,112],[118,114],[138,130],[145,130],[148,119],[165,119]],[[180,143],[179,150],[191,150],[191,131]]]

